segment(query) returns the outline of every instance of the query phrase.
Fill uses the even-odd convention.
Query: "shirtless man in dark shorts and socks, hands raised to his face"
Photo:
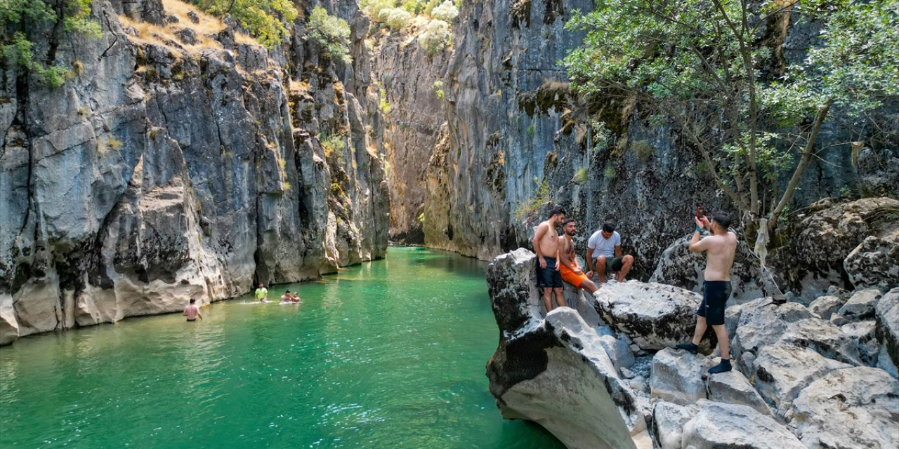
[[[730,270],[734,265],[736,234],[727,230],[730,216],[725,212],[717,212],[712,216],[711,222],[705,216],[694,220],[696,232],[690,240],[690,251],[706,252],[706,282],[703,284],[702,304],[699,304],[699,310],[696,311],[693,341],[681,343],[677,348],[696,354],[702,335],[706,333],[708,325],[712,326],[718,338],[718,347],[721,348],[721,363],[708,368],[708,373],[725,373],[731,370],[730,345],[725,329],[725,304],[731,294]],[[712,234],[699,240],[699,230],[702,228],[708,229]]]

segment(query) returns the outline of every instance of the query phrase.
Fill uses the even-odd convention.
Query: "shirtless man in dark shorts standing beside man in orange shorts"
[[[549,211],[547,221],[537,226],[534,232],[534,252],[539,261],[537,265],[537,286],[542,288],[543,305],[547,313],[553,310],[550,293],[556,294],[556,303],[559,307],[565,307],[565,297],[562,295],[562,275],[559,273],[559,234],[556,227],[565,220],[565,210],[555,207]]]

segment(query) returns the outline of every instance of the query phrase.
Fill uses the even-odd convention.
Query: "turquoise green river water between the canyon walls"
[[[414,248],[298,290],[0,348],[0,447],[562,447],[487,391],[483,262]],[[270,294],[270,295],[271,295]],[[273,297],[277,297],[272,295]]]

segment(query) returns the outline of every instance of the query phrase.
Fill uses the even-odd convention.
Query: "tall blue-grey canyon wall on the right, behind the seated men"
[[[591,8],[591,2],[578,1],[464,2],[447,58],[416,60],[413,71],[406,72],[406,94],[397,96],[393,110],[417,108],[404,103],[432,96],[428,83],[415,84],[417,90],[409,92],[414,76],[427,73],[429,82],[439,76],[445,92],[443,113],[432,109],[430,99],[417,115],[434,120],[430,127],[406,128],[401,149],[386,149],[388,158],[404,158],[405,176],[414,176],[414,185],[421,187],[398,184],[404,189],[392,190],[392,214],[396,204],[416,212],[421,207],[427,246],[485,260],[530,247],[532,226],[552,202],[578,220],[575,242],[582,255],[590,233],[606,220],[616,221],[624,251],[636,254],[634,276],[646,279],[663,252],[690,233],[697,205],[730,208],[703,172],[699,154],[676,130],[651,126],[639,106],[627,99],[596,99],[588,106],[571,91],[557,63],[583,36],[566,31],[564,24],[574,10]],[[789,25],[782,44],[788,61],[803,57],[817,27],[807,22]],[[376,54],[379,51],[395,53],[389,46],[376,49]],[[393,76],[393,83],[398,79]],[[598,137],[588,128],[588,117],[604,122],[610,131],[607,142],[595,151]],[[442,120],[441,133],[437,130]],[[794,210],[850,189],[899,194],[899,173],[891,168],[899,162],[895,108],[878,117],[877,126],[892,137],[853,160],[847,145],[835,144],[858,138],[870,125],[853,123],[839,111],[834,114],[823,130],[823,150],[806,169]],[[403,220],[392,216],[391,234],[412,231],[417,225],[410,218],[415,215],[406,213]],[[790,262],[785,263],[787,268]],[[812,276],[847,286],[839,274],[826,271]],[[791,286],[800,282],[793,281]]]

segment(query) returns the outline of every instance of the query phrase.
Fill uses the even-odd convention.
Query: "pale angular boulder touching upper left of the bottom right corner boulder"
[[[812,349],[779,344],[761,348],[751,379],[761,397],[783,415],[809,383],[834,369],[848,367]]]

